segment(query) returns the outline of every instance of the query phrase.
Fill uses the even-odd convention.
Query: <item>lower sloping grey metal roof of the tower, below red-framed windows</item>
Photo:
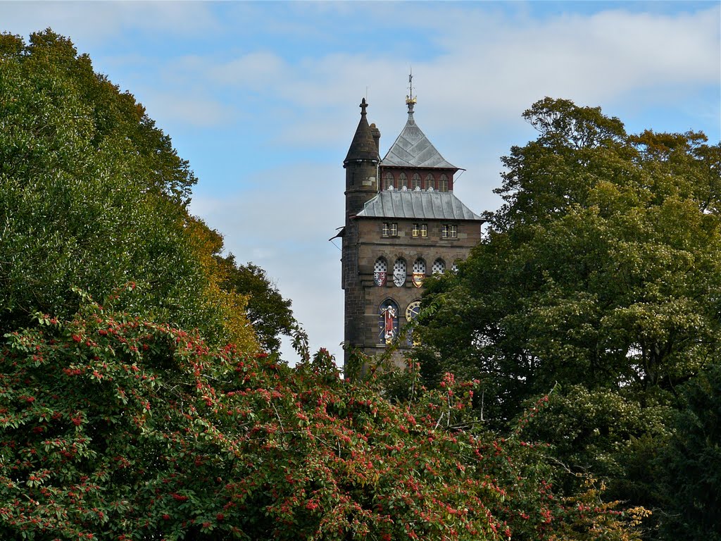
[[[358,217],[408,218],[419,220],[483,219],[451,192],[384,190],[366,203]]]

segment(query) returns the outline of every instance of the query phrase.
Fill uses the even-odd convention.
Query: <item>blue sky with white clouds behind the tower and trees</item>
[[[342,161],[369,103],[384,156],[407,120],[466,170],[477,214],[549,96],[630,133],[721,138],[720,1],[5,1],[0,31],[51,27],[141,102],[198,177],[190,211],[293,300],[342,363]],[[291,364],[297,356],[283,346]]]

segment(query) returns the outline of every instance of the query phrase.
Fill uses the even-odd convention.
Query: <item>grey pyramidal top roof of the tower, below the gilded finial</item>
[[[458,170],[458,167],[446,162],[441,153],[428,141],[425,133],[416,125],[413,119],[415,99],[406,102],[408,121],[381,164],[394,167],[439,167]]]

